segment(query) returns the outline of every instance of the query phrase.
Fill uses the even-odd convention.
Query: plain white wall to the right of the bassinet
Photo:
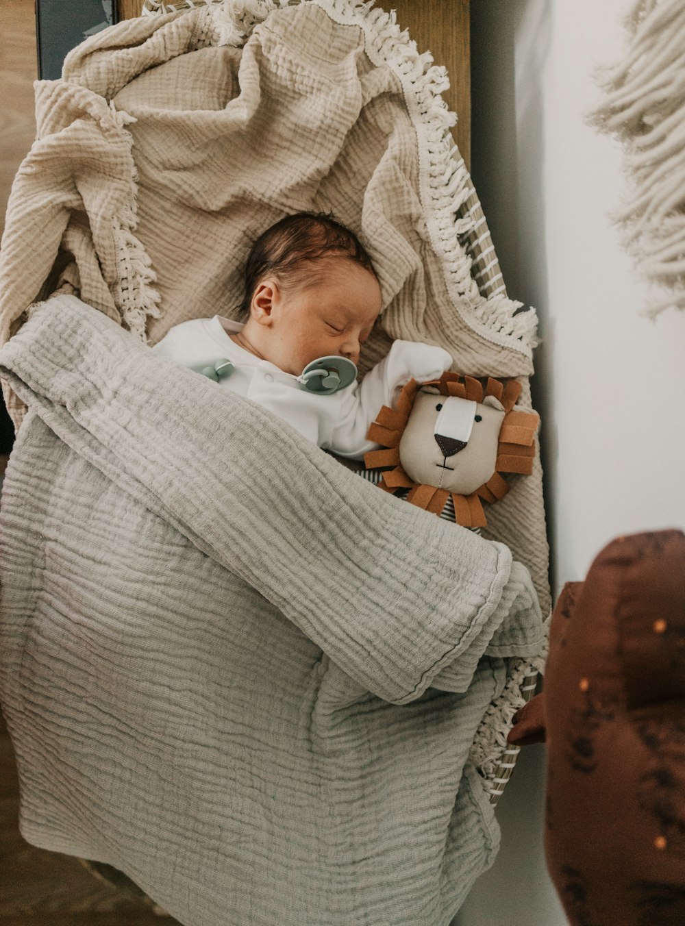
[[[473,177],[509,293],[535,306],[533,395],[554,594],[621,533],[685,525],[685,313],[640,316],[646,287],[608,213],[620,151],[582,114],[592,67],[620,54],[626,0],[471,4]],[[458,926],[566,923],[542,853],[544,748],[500,801],[503,846]]]

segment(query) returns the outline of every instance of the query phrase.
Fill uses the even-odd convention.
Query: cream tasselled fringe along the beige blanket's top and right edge
[[[433,64],[430,52],[419,54],[408,31],[397,24],[394,10],[386,12],[373,0],[144,0],[143,15],[207,6],[214,42],[239,46],[271,12],[299,3],[316,4],[341,25],[359,27],[371,61],[387,65],[398,77],[417,131],[420,193],[430,241],[441,259],[455,311],[487,341],[531,357],[538,343],[537,315],[506,294],[487,222],[450,131],[456,115],[441,95],[449,87],[447,70]]]

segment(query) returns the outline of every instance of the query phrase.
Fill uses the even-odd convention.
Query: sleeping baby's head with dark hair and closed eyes
[[[317,357],[359,360],[380,312],[380,286],[354,232],[300,212],[257,238],[245,265],[245,340],[299,376]]]

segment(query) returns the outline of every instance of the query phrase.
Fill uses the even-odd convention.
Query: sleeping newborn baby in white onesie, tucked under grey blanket
[[[328,216],[303,212],[272,225],[256,240],[244,277],[244,323],[218,315],[184,321],[153,350],[193,369],[209,365],[211,373],[214,365],[223,388],[341,457],[378,447],[368,427],[405,382],[438,379],[452,365],[442,347],[395,341],[356,382],[353,364],[379,316],[380,286],[354,232]],[[327,369],[311,372],[321,357]],[[325,391],[322,378],[338,388]]]

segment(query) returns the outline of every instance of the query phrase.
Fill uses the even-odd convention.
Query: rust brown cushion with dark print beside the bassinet
[[[685,535],[567,585],[545,673],[545,850],[574,926],[685,923]]]

